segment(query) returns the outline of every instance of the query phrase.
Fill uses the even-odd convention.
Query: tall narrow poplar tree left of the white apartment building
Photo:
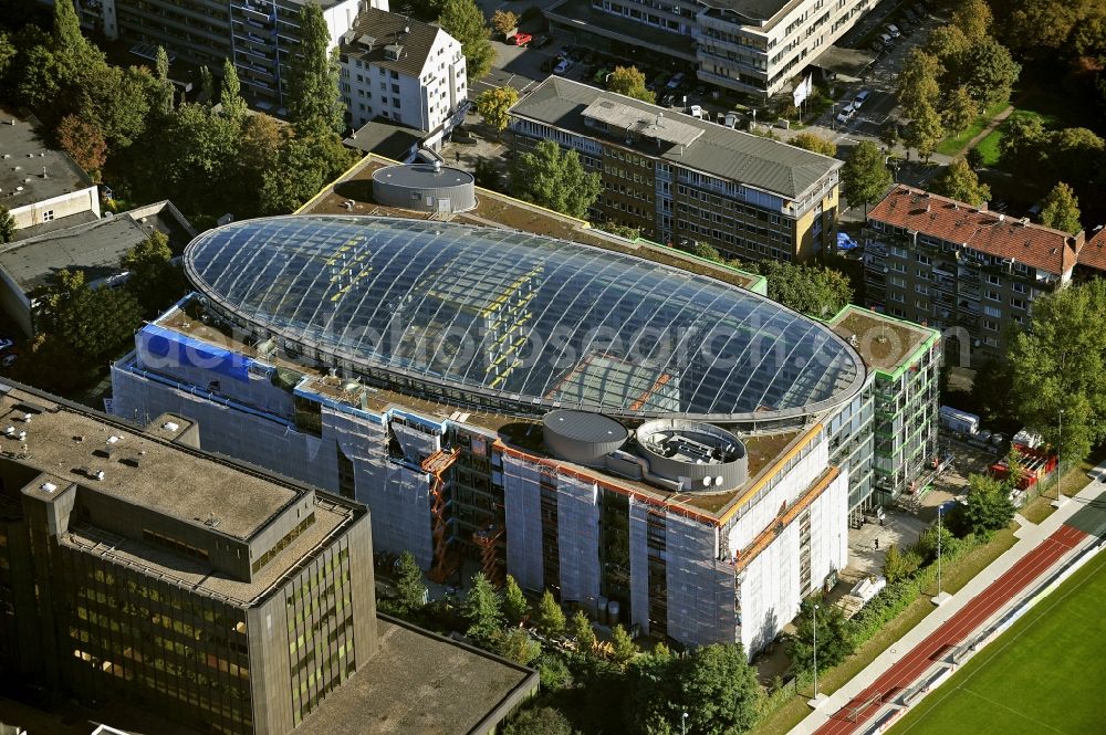
[[[327,52],[331,32],[314,2],[300,10],[300,48],[289,69],[288,114],[301,136],[337,134],[345,129],[338,90],[338,63]]]

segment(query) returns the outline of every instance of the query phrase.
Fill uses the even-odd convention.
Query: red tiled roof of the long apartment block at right
[[[1072,237],[906,186],[893,189],[868,212],[868,219],[959,243],[989,255],[1012,258],[1057,275],[1075,265],[1084,237],[1082,232]]]

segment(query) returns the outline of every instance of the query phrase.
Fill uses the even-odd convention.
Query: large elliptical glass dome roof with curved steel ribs
[[[209,307],[322,365],[508,413],[784,418],[865,378],[830,328],[760,295],[513,230],[280,217],[205,232],[185,265]]]

